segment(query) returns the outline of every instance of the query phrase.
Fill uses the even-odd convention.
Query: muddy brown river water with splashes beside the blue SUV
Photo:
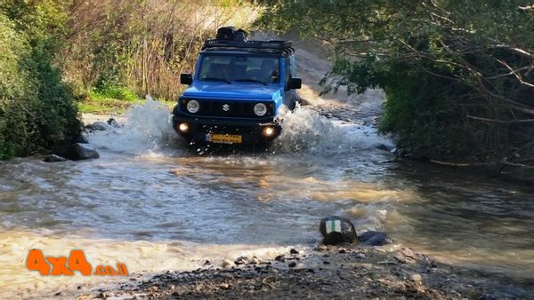
[[[288,113],[268,148],[206,148],[185,145],[167,108],[150,100],[121,127],[88,134],[98,160],[4,162],[0,288],[35,296],[58,285],[26,269],[29,249],[85,249],[92,264],[121,261],[130,272],[187,270],[206,259],[309,249],[329,215],[446,263],[533,280],[530,187],[388,162],[392,154],[376,146],[392,142],[367,122],[316,110]],[[61,284],[100,280],[75,277]]]

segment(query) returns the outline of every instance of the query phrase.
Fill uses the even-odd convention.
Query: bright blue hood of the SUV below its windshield
[[[202,99],[277,99],[283,88],[258,83],[193,83],[183,92],[186,98]]]

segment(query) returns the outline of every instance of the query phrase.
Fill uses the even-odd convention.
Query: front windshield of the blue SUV
[[[198,79],[227,83],[279,83],[279,58],[243,55],[204,55]]]

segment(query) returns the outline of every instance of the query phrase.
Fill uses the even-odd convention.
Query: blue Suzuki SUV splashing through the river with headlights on
[[[200,52],[195,74],[173,111],[173,127],[189,141],[257,144],[279,136],[281,107],[295,108],[302,81],[295,78],[289,41],[247,41],[246,33],[220,28]]]

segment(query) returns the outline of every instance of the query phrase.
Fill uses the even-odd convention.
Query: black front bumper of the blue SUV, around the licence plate
[[[187,123],[186,132],[179,129],[180,124]],[[263,134],[263,129],[271,127],[274,134],[267,137]],[[278,122],[272,117],[264,119],[231,119],[217,118],[208,116],[190,116],[174,111],[173,128],[183,138],[197,142],[208,142],[209,134],[229,134],[239,135],[242,138],[242,144],[257,144],[271,141],[277,138],[281,132]]]

